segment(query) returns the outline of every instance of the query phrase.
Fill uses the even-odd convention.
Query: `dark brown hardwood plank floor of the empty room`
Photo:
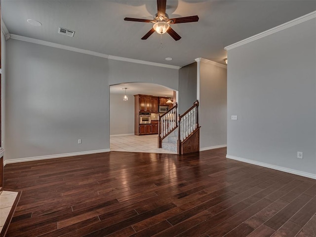
[[[7,237],[315,237],[316,180],[226,159],[111,152],[7,164]]]

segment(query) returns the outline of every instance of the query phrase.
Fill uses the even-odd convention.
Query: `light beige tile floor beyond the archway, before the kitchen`
[[[117,152],[148,152],[176,154],[157,148],[158,135],[123,135],[110,137],[110,150]]]

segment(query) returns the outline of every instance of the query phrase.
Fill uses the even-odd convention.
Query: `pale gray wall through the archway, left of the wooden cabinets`
[[[134,134],[134,95],[110,93],[110,134]]]

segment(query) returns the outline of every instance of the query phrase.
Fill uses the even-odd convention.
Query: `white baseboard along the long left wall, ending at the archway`
[[[4,160],[3,165],[10,164],[10,163],[18,163],[18,162],[25,162],[25,161],[40,160],[40,159],[52,159],[52,158],[62,158],[62,157],[74,157],[74,156],[97,154],[97,153],[103,153],[103,152],[110,152],[110,149],[87,151],[87,152],[65,153],[65,154],[57,154],[57,155],[41,156],[41,157],[28,157],[28,158],[18,158],[18,159],[7,159],[7,160]]]

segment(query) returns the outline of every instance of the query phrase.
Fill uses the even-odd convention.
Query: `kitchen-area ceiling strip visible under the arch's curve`
[[[137,95],[137,94],[146,94],[146,95],[153,95],[159,97],[170,97],[173,98],[173,90],[170,88],[164,87],[158,84],[152,83],[140,83],[140,82],[133,82],[133,83],[122,83],[117,85],[110,86],[110,94],[125,94],[126,95]]]

